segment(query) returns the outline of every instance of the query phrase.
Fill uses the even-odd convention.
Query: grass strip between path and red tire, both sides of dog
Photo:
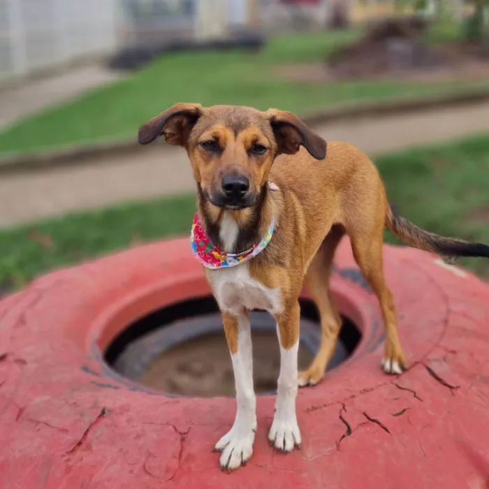
[[[419,226],[489,243],[489,138],[413,149],[376,160],[392,203]],[[131,203],[0,231],[0,289],[141,241],[189,233],[193,195]],[[395,242],[386,232],[386,238]],[[489,277],[489,260],[462,261]]]

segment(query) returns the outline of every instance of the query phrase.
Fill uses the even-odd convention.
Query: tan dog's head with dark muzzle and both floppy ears
[[[326,141],[291,112],[275,109],[177,103],[143,124],[138,141],[158,136],[187,149],[207,200],[233,210],[254,205],[279,154],[303,146],[316,159],[326,157]]]

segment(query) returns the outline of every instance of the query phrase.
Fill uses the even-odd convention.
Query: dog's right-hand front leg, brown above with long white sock
[[[301,443],[295,414],[295,398],[298,391],[299,303],[294,301],[291,307],[284,314],[278,314],[276,319],[280,343],[280,374],[277,382],[275,416],[268,439],[277,450],[290,452]]]

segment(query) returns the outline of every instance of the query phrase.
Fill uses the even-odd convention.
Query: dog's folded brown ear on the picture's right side
[[[270,125],[275,135],[277,154],[295,154],[302,145],[314,158],[326,158],[326,141],[312,132],[292,112],[269,109],[265,112],[265,115],[270,120]]]

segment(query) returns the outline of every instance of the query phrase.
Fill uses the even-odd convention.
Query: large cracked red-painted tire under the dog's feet
[[[101,353],[138,317],[209,295],[187,240],[36,280],[0,302],[0,487],[482,488],[489,287],[413,249],[386,247],[384,264],[410,369],[381,372],[379,306],[345,240],[333,293],[363,339],[319,386],[300,390],[300,450],[272,451],[275,399],[258,399],[254,455],[231,476],[212,448],[233,423],[233,399],[156,393]]]

